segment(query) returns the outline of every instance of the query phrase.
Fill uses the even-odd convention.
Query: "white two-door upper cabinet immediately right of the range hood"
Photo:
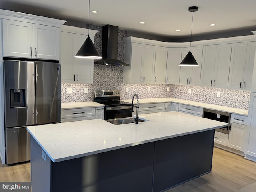
[[[156,58],[156,46],[128,43],[125,45],[124,83],[153,84]]]

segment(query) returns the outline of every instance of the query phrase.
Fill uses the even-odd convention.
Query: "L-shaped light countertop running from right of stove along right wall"
[[[131,99],[122,100],[125,102],[132,103]],[[240,114],[240,115],[246,115],[248,116],[248,110],[245,109],[238,109],[238,108],[232,108],[232,107],[226,107],[226,106],[220,106],[220,105],[213,105],[213,104],[207,104],[207,103],[201,103],[196,101],[189,101],[184,99],[178,99],[178,98],[151,98],[151,99],[139,99],[139,104],[150,104],[150,103],[163,103],[163,102],[174,102],[179,104],[186,104],[190,106],[196,106],[201,108],[207,108],[207,109],[213,109],[223,112],[229,112],[232,114]],[[137,100],[134,100],[134,104],[137,103]]]

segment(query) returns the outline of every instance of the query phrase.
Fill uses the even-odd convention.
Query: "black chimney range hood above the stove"
[[[102,27],[102,59],[94,60],[94,64],[129,66],[117,59],[118,26],[105,25]]]

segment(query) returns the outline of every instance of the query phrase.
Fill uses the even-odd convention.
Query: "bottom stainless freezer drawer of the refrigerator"
[[[6,128],[6,162],[30,160],[30,134],[26,127]]]

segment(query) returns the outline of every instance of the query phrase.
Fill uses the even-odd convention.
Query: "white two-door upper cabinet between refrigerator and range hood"
[[[61,32],[62,83],[93,83],[93,59],[75,58],[76,53],[88,37],[88,30],[63,26]],[[76,33],[75,33],[76,32]],[[90,36],[92,42],[94,37]]]

